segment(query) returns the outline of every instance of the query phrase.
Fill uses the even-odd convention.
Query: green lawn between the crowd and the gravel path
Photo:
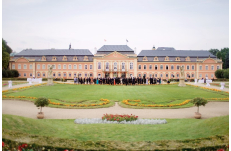
[[[187,99],[195,97],[204,98],[227,98],[225,92],[215,92],[197,87],[177,85],[149,85],[149,86],[111,86],[111,85],[68,85],[55,84],[54,86],[33,87],[23,91],[7,94],[8,96],[27,96],[27,97],[47,97],[56,103],[64,104],[92,104],[102,103],[101,98],[109,99],[110,104],[104,107],[112,106],[114,101],[123,101],[124,99],[141,100],[139,104],[178,104]],[[227,100],[226,100],[227,101]],[[120,103],[123,107],[131,107]],[[57,107],[57,105],[50,105]],[[188,103],[180,107],[190,107],[193,104]],[[59,106],[64,107],[64,106]],[[98,106],[102,107],[102,106]],[[94,107],[93,107],[94,108]],[[138,107],[133,107],[138,108]],[[142,107],[139,107],[142,108]]]

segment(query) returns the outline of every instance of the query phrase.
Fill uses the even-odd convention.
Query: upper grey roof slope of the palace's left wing
[[[93,56],[88,49],[25,49],[15,54],[17,56]]]

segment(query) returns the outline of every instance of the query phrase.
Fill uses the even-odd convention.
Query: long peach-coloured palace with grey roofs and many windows
[[[93,55],[88,49],[26,49],[11,56],[9,67],[20,78],[47,78],[49,66],[54,78],[154,77],[178,79],[180,66],[185,77],[215,79],[222,61],[209,51],[153,47],[138,55],[127,45],[104,45]]]

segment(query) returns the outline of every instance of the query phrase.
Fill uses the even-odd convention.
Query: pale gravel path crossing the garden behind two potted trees
[[[2,114],[19,115],[36,119],[39,110],[33,102],[3,100]],[[194,118],[196,107],[181,109],[129,109],[117,103],[113,107],[100,109],[60,109],[44,107],[45,119],[101,118],[103,114],[134,114],[139,118]],[[200,107],[202,118],[229,115],[229,102],[209,102]]]

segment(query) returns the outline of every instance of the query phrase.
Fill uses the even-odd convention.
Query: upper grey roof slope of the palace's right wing
[[[147,57],[160,57],[160,56],[171,56],[171,57],[211,57],[216,58],[213,54],[211,54],[209,51],[203,51],[203,50],[142,50],[138,57],[147,56]]]

